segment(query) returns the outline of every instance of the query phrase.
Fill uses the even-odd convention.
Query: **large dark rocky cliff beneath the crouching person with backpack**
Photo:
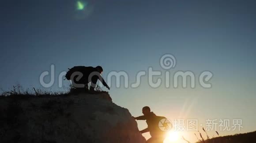
[[[1,97],[0,143],[145,143],[108,93]]]

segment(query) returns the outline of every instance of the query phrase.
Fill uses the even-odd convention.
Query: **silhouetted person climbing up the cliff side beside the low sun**
[[[163,143],[166,132],[162,131],[158,123],[165,117],[157,116],[150,111],[150,107],[145,106],[142,108],[143,116],[133,117],[135,120],[146,120],[147,128],[139,131],[141,133],[150,132],[151,138],[146,143]]]

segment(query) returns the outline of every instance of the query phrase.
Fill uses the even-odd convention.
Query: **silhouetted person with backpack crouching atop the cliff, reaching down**
[[[109,89],[109,86],[102,78],[101,74],[103,72],[103,68],[101,66],[97,67],[85,67],[85,66],[75,66],[67,72],[65,75],[66,79],[72,81],[72,85],[75,88],[83,88],[90,82],[90,91],[93,91],[96,87],[96,83],[98,79],[102,82],[102,84]]]

